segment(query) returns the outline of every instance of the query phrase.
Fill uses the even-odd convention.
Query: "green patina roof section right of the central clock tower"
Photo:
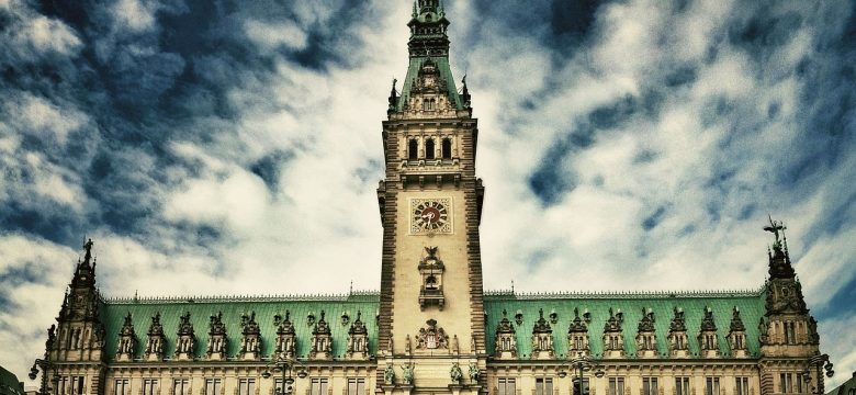
[[[642,318],[643,309],[654,312],[654,329],[657,339],[657,351],[661,358],[668,356],[668,328],[674,317],[674,308],[684,311],[684,318],[689,338],[690,356],[699,354],[697,336],[701,327],[701,318],[706,307],[713,312],[719,349],[723,357],[729,356],[728,340],[732,312],[740,309],[740,315],[746,328],[746,342],[750,356],[759,351],[757,323],[764,315],[764,293],[748,292],[700,292],[700,293],[578,293],[578,294],[530,294],[520,295],[511,292],[494,292],[485,295],[485,312],[487,313],[487,350],[492,352],[495,343],[496,327],[503,318],[503,309],[508,312],[508,319],[515,325],[517,352],[520,359],[528,359],[532,352],[532,327],[539,318],[539,308],[543,308],[544,317],[555,311],[557,321],[551,324],[553,345],[557,357],[567,353],[567,329],[574,319],[574,308],[579,314],[588,311],[589,347],[595,357],[604,353],[604,324],[609,318],[609,308],[623,313],[622,334],[624,336],[624,352],[633,358],[637,352],[637,329]],[[521,325],[515,323],[515,315],[522,313]]]

